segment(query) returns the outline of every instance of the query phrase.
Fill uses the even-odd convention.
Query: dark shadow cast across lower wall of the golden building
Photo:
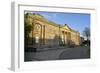
[[[52,37],[51,37],[52,38]],[[54,48],[58,46],[75,47],[75,43],[71,40],[67,42],[62,41],[62,38],[55,35],[53,39],[36,39],[36,38],[25,38],[25,50],[28,48]]]

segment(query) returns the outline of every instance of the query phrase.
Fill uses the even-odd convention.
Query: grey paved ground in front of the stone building
[[[26,61],[59,60],[59,59],[81,59],[89,58],[89,47],[52,49],[38,52],[26,52]]]

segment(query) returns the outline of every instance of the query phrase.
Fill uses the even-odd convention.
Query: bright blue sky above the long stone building
[[[57,24],[67,24],[70,28],[79,31],[82,35],[85,27],[90,28],[90,14],[87,13],[62,13],[62,12],[33,12],[44,16],[49,21]]]

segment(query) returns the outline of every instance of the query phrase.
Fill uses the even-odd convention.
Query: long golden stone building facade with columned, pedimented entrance
[[[25,16],[32,26],[32,30],[29,32],[28,45],[35,47],[80,45],[80,33],[71,29],[67,24],[60,25],[50,22],[40,14],[35,13],[27,13]]]

